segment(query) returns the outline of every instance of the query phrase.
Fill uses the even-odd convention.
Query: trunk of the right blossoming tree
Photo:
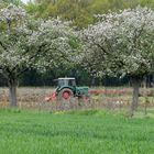
[[[132,103],[131,103],[131,117],[133,116],[134,111],[138,108],[138,102],[139,102],[139,89],[140,89],[140,84],[142,79],[140,77],[132,77],[132,87],[133,87],[133,92],[132,92]]]

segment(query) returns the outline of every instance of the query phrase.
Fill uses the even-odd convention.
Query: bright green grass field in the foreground
[[[0,110],[1,154],[153,154],[154,112]]]

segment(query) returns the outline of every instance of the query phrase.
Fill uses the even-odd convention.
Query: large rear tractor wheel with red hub
[[[69,101],[73,97],[74,94],[69,88],[64,88],[58,94],[58,99],[62,101]]]

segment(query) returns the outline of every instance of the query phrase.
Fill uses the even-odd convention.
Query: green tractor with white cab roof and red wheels
[[[69,101],[72,98],[88,99],[88,87],[77,87],[75,78],[65,77],[55,80],[58,82],[57,88],[46,100],[53,100],[53,98],[58,101]]]

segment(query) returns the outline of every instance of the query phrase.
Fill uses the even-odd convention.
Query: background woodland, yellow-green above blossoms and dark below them
[[[10,2],[24,6],[28,12],[35,18],[48,19],[59,16],[63,20],[70,20],[77,29],[87,28],[89,24],[95,23],[95,14],[134,8],[138,4],[154,9],[153,0],[34,0],[34,2],[29,2],[26,6],[20,0],[0,0],[0,8]],[[30,69],[22,75],[19,82],[23,86],[51,86],[55,84],[53,82],[54,78],[62,76],[75,76],[79,85],[119,86],[128,84],[128,77],[124,79],[111,77],[94,79],[84,70],[82,66],[69,69],[61,67],[56,72],[51,69],[45,75],[38,74],[35,69]],[[148,80],[153,80],[152,76],[148,78]],[[3,85],[6,85],[6,82],[1,76],[0,86]]]

